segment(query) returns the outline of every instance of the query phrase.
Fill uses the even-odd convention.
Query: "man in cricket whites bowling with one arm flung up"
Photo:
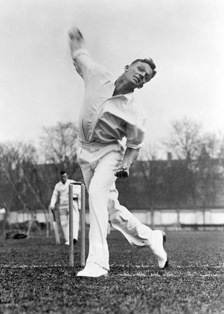
[[[137,59],[124,67],[120,77],[94,62],[80,30],[69,32],[70,49],[77,73],[85,84],[78,120],[78,163],[89,192],[89,254],[78,277],[107,276],[109,251],[108,221],[135,247],[148,247],[160,268],[168,267],[164,250],[166,235],[142,224],[118,201],[116,179],[126,178],[139,154],[145,134],[145,115],[134,99],[134,89],[142,88],[156,74],[150,58]],[[126,138],[126,149],[120,143]]]

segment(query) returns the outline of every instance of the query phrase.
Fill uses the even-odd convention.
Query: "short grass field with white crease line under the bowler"
[[[76,278],[53,237],[0,241],[0,314],[224,314],[224,232],[168,232],[171,266],[108,236],[110,276]],[[88,249],[88,248],[86,248]]]

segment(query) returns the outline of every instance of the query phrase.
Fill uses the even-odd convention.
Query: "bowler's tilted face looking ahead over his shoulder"
[[[145,83],[149,82],[152,73],[153,71],[149,64],[141,61],[137,61],[124,68],[124,76],[133,89],[140,88]]]

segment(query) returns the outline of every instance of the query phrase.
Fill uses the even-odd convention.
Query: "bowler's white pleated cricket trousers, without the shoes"
[[[152,230],[121,206],[114,173],[122,163],[124,147],[115,142],[100,144],[80,141],[77,159],[89,192],[90,231],[88,262],[109,270],[108,221],[134,246],[150,244]],[[125,180],[127,179],[122,179]]]

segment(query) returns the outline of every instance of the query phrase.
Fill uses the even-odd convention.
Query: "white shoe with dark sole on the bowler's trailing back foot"
[[[152,231],[153,244],[149,246],[149,249],[155,255],[161,269],[167,268],[169,266],[169,258],[166,251],[164,250],[164,242],[166,242],[166,234],[164,231]]]

